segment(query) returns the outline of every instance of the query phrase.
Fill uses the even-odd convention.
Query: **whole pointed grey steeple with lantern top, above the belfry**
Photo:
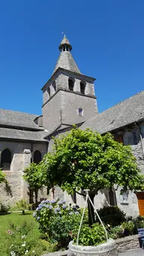
[[[76,62],[74,61],[73,56],[71,55],[72,46],[66,36],[64,36],[64,38],[62,39],[62,42],[58,49],[61,53],[59,55],[53,73],[55,73],[58,68],[65,68],[68,71],[73,71],[81,74]]]

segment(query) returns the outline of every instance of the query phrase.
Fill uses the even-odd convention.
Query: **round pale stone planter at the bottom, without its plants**
[[[68,247],[68,256],[118,256],[117,245],[113,239],[97,246],[74,245],[71,241]]]

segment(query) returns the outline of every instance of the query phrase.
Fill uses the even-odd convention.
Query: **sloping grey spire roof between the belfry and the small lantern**
[[[79,68],[77,67],[76,62],[73,59],[73,56],[71,55],[70,52],[67,52],[67,51],[60,53],[53,73],[55,73],[55,71],[58,68],[65,68],[68,71],[72,71],[72,72],[81,74]]]

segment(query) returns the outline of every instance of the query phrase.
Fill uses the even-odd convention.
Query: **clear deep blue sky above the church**
[[[97,79],[99,111],[142,91],[143,12],[143,0],[1,1],[0,108],[41,114],[62,31],[80,71]]]

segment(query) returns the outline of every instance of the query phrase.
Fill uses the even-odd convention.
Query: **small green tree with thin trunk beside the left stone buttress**
[[[39,167],[39,164],[34,163],[26,167],[24,173],[23,179],[28,183],[29,191],[34,191],[35,204],[37,205],[38,191],[43,187],[46,177],[43,175],[43,170]]]

